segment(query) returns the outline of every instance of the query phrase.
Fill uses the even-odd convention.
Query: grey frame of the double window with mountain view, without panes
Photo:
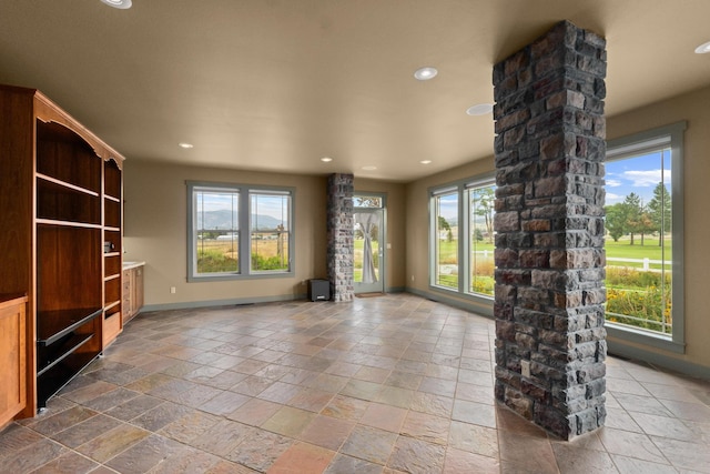
[[[186,181],[187,185],[187,282],[210,282],[227,280],[250,280],[264,278],[290,278],[295,275],[295,188],[276,188],[251,184],[230,184],[202,181]],[[235,272],[197,274],[197,229],[195,192],[216,191],[223,193],[239,193],[237,229],[239,269]],[[252,195],[287,195],[288,210],[288,268],[287,270],[252,270]]]

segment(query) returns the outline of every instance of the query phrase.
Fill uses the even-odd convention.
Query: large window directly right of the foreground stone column
[[[606,160],[607,329],[682,351],[684,123],[613,140]]]

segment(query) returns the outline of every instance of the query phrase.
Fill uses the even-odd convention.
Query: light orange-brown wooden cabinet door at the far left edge
[[[26,301],[0,303],[0,427],[27,404]]]

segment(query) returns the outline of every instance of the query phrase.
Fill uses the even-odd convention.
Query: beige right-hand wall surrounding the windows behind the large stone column
[[[710,282],[710,88],[658,102],[618,117],[607,119],[607,138],[616,139],[657,127],[688,121],[684,134],[684,316],[686,353],[676,354],[647,345],[629,344],[610,339],[617,347],[630,349],[625,353],[647,359],[693,374],[708,375],[710,370],[710,311],[708,311],[708,282]],[[465,300],[448,293],[432,291],[428,286],[428,199],[427,189],[459,179],[493,171],[493,157],[468,165],[439,173],[407,184],[407,286],[415,293],[429,293],[448,297],[449,302]],[[414,278],[414,281],[412,281]],[[470,305],[473,311],[486,311]],[[488,313],[490,313],[488,309]]]

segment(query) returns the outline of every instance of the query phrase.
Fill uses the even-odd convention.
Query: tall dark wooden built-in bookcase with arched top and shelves
[[[122,330],[124,159],[37,90],[0,85],[0,293],[28,296],[33,416]]]

